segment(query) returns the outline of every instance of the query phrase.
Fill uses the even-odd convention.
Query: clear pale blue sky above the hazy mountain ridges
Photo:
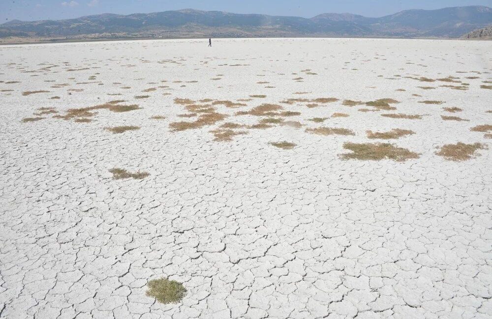
[[[320,13],[381,17],[406,9],[486,5],[492,0],[0,0],[0,23],[12,19],[70,19],[100,13],[130,14],[193,8],[310,18]]]

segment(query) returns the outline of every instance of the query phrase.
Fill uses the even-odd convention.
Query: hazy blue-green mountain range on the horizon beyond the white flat
[[[101,14],[69,20],[0,25],[0,38],[80,39],[121,37],[401,37],[458,38],[492,25],[492,9],[465,6],[406,10],[368,18],[325,13],[313,18],[184,9],[130,15]]]

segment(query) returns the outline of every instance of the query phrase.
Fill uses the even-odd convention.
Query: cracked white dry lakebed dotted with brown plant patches
[[[491,318],[490,42],[207,45],[0,47],[1,318]]]

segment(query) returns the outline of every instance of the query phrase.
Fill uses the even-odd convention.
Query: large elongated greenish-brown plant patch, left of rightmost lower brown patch
[[[341,154],[344,160],[396,160],[405,161],[418,159],[419,154],[389,143],[350,143],[343,144],[343,148],[352,153]]]

